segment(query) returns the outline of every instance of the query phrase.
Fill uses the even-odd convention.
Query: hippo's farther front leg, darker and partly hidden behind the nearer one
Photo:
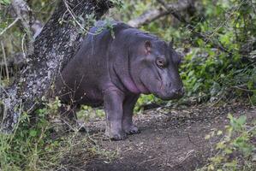
[[[140,95],[130,95],[123,102],[122,130],[128,134],[140,133],[139,129],[133,124],[134,105]]]

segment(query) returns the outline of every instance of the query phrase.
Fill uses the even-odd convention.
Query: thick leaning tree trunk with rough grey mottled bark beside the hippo
[[[85,33],[81,32],[83,29],[78,20],[82,18],[86,24],[89,15],[98,20],[112,6],[113,3],[107,0],[60,1],[51,19],[35,39],[33,54],[27,56],[27,67],[21,71],[15,84],[0,95],[3,103],[3,132],[13,130],[23,111],[31,113],[39,107],[57,73],[74,56]],[[76,24],[74,20],[77,20]]]

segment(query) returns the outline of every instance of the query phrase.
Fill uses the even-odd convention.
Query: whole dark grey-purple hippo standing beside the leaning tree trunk
[[[172,44],[120,21],[98,21],[57,76],[56,95],[69,106],[104,105],[105,135],[125,139],[140,133],[133,124],[140,94],[164,100],[184,93]]]

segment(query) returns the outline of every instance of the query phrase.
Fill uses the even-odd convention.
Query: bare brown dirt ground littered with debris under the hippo
[[[193,106],[162,108],[135,115],[141,133],[123,141],[104,139],[104,120],[90,121],[89,133],[80,133],[77,141],[88,136],[92,145],[78,145],[62,165],[67,170],[87,171],[189,171],[203,166],[215,152],[223,135],[205,136],[213,130],[224,130],[228,114],[247,115],[256,119],[256,108],[233,104],[222,107]],[[93,140],[92,140],[93,139]]]

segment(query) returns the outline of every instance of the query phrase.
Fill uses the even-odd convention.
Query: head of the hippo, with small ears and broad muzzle
[[[162,40],[145,40],[131,56],[130,73],[141,93],[152,93],[164,100],[180,98],[184,94],[178,73],[182,56],[171,44]]]

